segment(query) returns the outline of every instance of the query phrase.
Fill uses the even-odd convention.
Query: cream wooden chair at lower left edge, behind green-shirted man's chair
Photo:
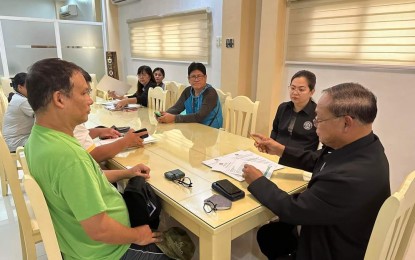
[[[0,157],[1,167],[4,169],[7,182],[12,192],[13,201],[16,207],[17,218],[20,229],[20,241],[22,244],[23,259],[36,259],[35,244],[42,241],[39,226],[33,217],[30,204],[27,204],[23,190],[20,186],[16,160],[13,160],[3,135],[0,133]]]

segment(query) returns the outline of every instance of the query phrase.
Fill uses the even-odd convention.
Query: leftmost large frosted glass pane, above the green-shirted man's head
[[[10,75],[27,71],[38,60],[57,57],[53,23],[3,20],[1,24]]]

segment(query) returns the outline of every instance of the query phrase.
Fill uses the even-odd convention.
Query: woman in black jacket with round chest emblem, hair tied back
[[[317,150],[319,141],[313,125],[317,105],[312,100],[315,85],[314,73],[301,70],[294,74],[288,86],[291,101],[279,105],[272,124],[272,139],[287,146]]]

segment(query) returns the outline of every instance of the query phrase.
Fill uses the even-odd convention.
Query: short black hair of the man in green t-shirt
[[[73,88],[71,77],[75,72],[82,73],[82,68],[59,58],[35,62],[26,78],[27,100],[33,111],[45,109],[56,91],[70,96]]]

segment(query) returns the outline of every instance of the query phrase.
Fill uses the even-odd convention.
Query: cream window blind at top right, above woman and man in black
[[[291,2],[286,61],[414,66],[415,1]]]

